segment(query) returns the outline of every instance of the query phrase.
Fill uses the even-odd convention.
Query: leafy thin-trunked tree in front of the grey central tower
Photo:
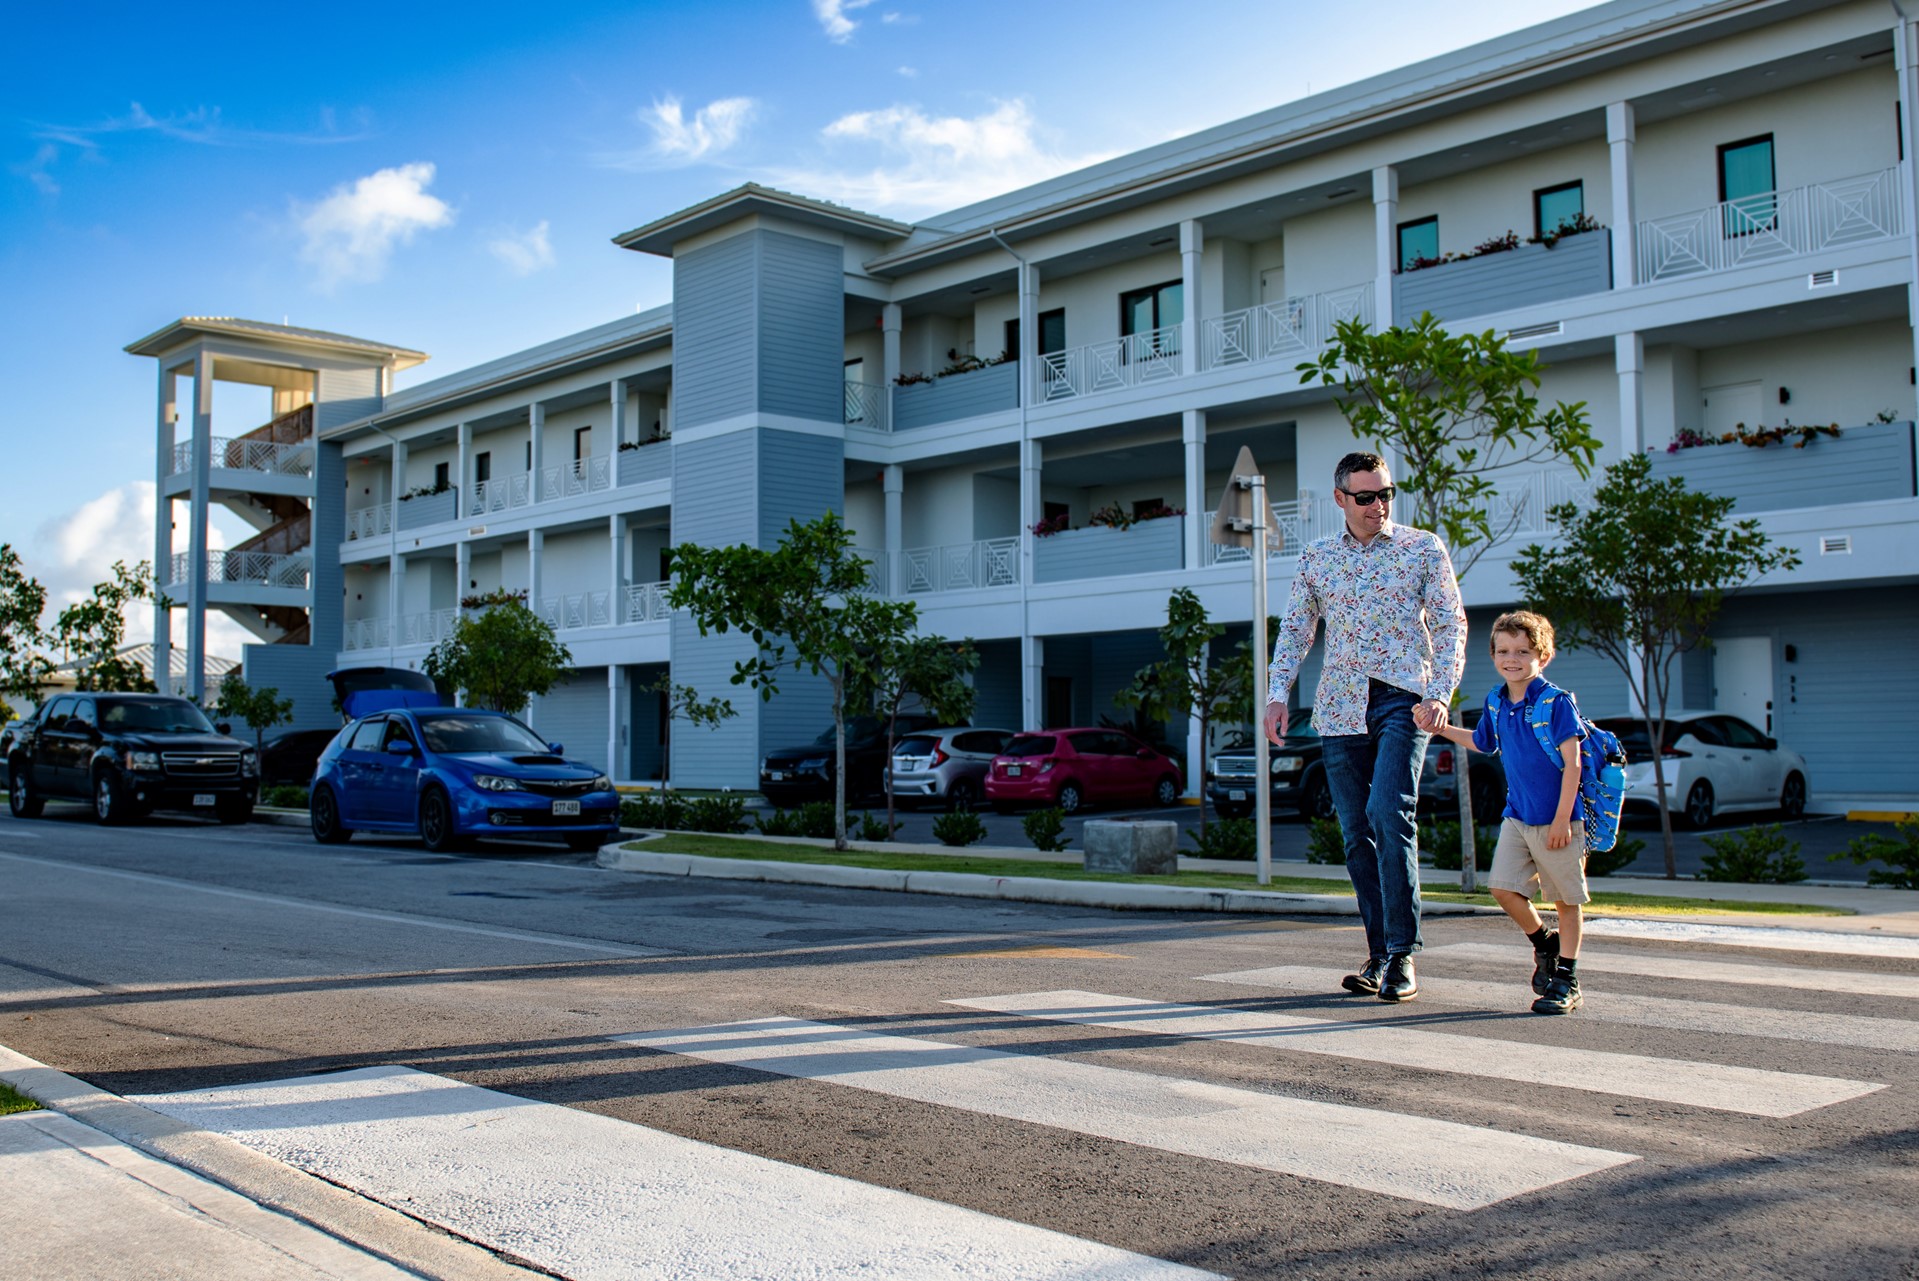
[[[913,631],[912,600],[867,594],[867,562],[839,514],[787,522],[779,547],[672,548],[666,598],[689,610],[704,637],[737,627],[754,656],[735,664],[733,685],[779,692],[785,667],[823,675],[833,696],[833,848],[846,848],[846,700],[871,690],[875,656]]]

